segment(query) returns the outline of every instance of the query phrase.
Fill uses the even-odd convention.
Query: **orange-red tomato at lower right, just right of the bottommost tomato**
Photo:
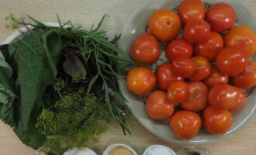
[[[209,133],[222,134],[230,129],[233,118],[228,110],[217,110],[209,106],[203,112],[202,123]]]

